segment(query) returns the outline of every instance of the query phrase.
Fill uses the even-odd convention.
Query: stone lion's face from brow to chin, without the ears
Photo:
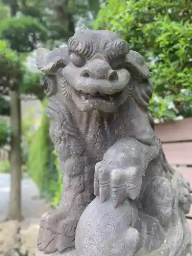
[[[68,41],[70,63],[58,76],[58,87],[78,109],[113,112],[128,95],[130,72],[124,68],[126,41],[113,32],[75,33]]]

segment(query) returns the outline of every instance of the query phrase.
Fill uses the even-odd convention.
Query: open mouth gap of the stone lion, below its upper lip
[[[99,100],[100,99],[100,100],[105,100],[105,101],[113,101],[122,94],[122,92],[117,92],[117,93],[114,93],[111,95],[104,94],[104,93],[83,93],[82,91],[78,91],[78,92],[82,99],[86,99],[86,100],[89,100],[89,99]]]

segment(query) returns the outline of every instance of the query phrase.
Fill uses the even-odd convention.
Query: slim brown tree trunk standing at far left
[[[22,180],[22,152],[21,142],[21,118],[20,118],[20,99],[16,91],[10,91],[11,104],[11,191],[9,201],[9,220],[22,220],[21,207],[21,180]]]

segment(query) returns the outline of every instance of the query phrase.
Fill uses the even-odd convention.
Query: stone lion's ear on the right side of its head
[[[137,79],[149,79],[152,76],[143,56],[133,50],[126,55],[125,67]]]

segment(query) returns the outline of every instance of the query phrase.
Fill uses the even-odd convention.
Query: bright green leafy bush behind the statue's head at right
[[[116,31],[144,55],[153,73],[154,117],[192,116],[192,3],[163,0],[108,0],[96,29]]]

